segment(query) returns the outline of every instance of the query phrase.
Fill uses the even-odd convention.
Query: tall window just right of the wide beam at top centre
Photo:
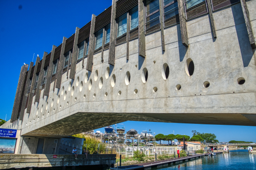
[[[160,23],[159,0],[146,0],[146,29]]]

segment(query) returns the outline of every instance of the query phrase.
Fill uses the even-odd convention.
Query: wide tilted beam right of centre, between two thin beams
[[[188,47],[189,42],[188,42],[184,0],[178,0],[178,14],[179,14],[179,24],[180,24],[180,31],[181,31],[181,41],[185,47]]]

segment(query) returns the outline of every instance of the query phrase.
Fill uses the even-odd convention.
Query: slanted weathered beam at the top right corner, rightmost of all
[[[256,48],[256,40],[255,40],[255,37],[254,37],[254,33],[253,33],[252,24],[251,24],[251,21],[250,21],[246,1],[245,0],[240,0],[240,2],[241,2],[242,10],[243,10],[243,17],[244,17],[244,20],[245,20],[245,25],[246,25],[246,28],[247,28],[250,44],[251,44],[252,48],[255,49]]]

